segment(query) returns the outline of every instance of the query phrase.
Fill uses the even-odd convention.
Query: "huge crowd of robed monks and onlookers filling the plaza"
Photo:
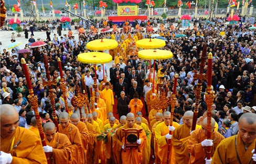
[[[4,49],[0,54],[0,104],[3,104],[0,109],[1,162],[2,159],[6,163],[15,162],[19,157],[46,163],[46,158],[42,157],[43,152],[50,153],[52,163],[149,163],[152,158],[155,163],[166,163],[167,159],[170,163],[207,164],[256,161],[256,154],[252,151],[256,138],[256,33],[249,29],[253,26],[250,22],[229,25],[218,20],[219,18],[214,18],[212,21],[215,24],[204,24],[195,19],[193,26],[183,30],[172,23],[167,27],[154,20],[147,20],[144,27],[140,25],[140,21],[134,21],[134,26],[127,20],[122,28],[118,28],[118,25],[113,28],[107,20],[103,20],[103,27],[112,31],[95,31],[99,27],[97,25],[90,30],[81,30],[79,28],[83,27],[77,25],[78,40],[71,28],[67,32],[62,31],[62,34],[59,26],[58,37],[46,27],[46,46],[33,48],[31,53],[23,54],[17,54],[20,49],[18,47],[11,52]],[[159,27],[157,30],[153,28],[155,23]],[[151,60],[139,58],[138,51],[141,49],[136,47],[136,41],[154,38],[154,35],[165,38],[166,45],[162,50],[173,52],[172,58],[157,60],[155,65]],[[176,37],[178,35],[181,37]],[[36,42],[34,34],[30,37],[25,49]],[[113,58],[112,67],[101,64],[94,68],[91,64],[79,62],[78,54],[90,52],[86,47],[87,43],[101,38],[118,42],[117,48],[109,50]],[[195,131],[191,131],[198,84],[198,79],[194,76],[200,70],[205,45],[208,47],[207,54],[213,54],[212,89],[215,96],[211,105],[211,139],[207,138],[207,81],[202,83],[197,127]],[[47,81],[43,55],[48,56],[51,80],[57,81],[53,91],[59,122],[58,133],[53,123],[49,88],[43,85]],[[62,63],[66,93],[60,87],[58,57]],[[35,112],[28,99],[21,58],[25,58],[27,62],[31,84],[38,97],[38,111],[47,143],[43,148],[39,143]],[[207,73],[207,62],[206,60],[204,73]],[[156,109],[155,104],[161,102],[159,96],[162,94],[166,99],[172,99],[176,73],[179,75],[177,101],[174,123],[169,126],[170,107],[167,110]],[[90,87],[94,78],[98,89],[93,89],[92,93]],[[156,91],[160,79],[166,86],[161,93]],[[90,104],[93,110],[90,111],[91,108],[86,105],[83,107],[83,118],[79,117],[80,111],[72,103],[77,86],[81,88],[81,92],[86,90],[89,101],[91,96],[96,98],[95,103]],[[65,109],[65,96],[68,109]],[[15,126],[15,130],[11,131],[7,126]],[[20,127],[35,132],[35,136]],[[140,152],[125,146],[122,128],[143,129],[140,138],[136,140]],[[33,138],[31,140],[37,140],[37,145],[30,143],[30,140],[27,140],[30,144],[23,145],[24,136],[18,137],[22,131],[30,134]],[[169,134],[169,131],[173,131],[173,134]],[[18,139],[22,141],[20,146]],[[174,150],[169,157],[168,139],[172,139]],[[234,142],[236,145],[232,145]],[[5,143],[3,149],[2,143]],[[205,159],[208,146],[212,146],[212,159]],[[38,149],[36,154],[33,147]],[[26,153],[29,156],[16,154],[24,148],[28,149]]]

